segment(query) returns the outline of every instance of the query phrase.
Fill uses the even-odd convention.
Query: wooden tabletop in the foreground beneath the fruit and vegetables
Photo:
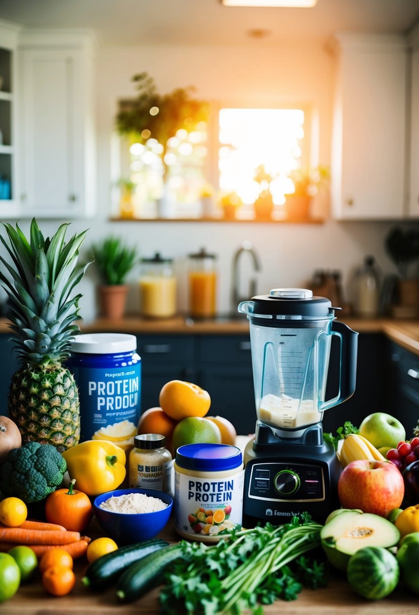
[[[176,542],[177,535],[173,531],[171,520],[166,529],[160,534],[169,542]],[[100,535],[95,519],[89,536],[96,538]],[[74,571],[76,573],[76,586],[68,596],[52,597],[41,584],[40,577],[36,577],[27,585],[22,585],[14,597],[2,603],[2,615],[45,615],[47,613],[70,615],[84,613],[85,615],[102,615],[103,613],[120,613],[121,615],[161,615],[159,609],[159,588],[147,593],[140,600],[123,605],[117,603],[115,588],[105,592],[95,593],[82,585],[80,579],[85,568],[85,559],[76,560]],[[331,571],[327,587],[318,590],[303,590],[297,600],[290,602],[276,601],[273,605],[264,606],[265,615],[382,615],[391,613],[397,615],[417,615],[417,597],[407,594],[397,588],[388,598],[375,602],[364,600],[351,590],[343,574]]]

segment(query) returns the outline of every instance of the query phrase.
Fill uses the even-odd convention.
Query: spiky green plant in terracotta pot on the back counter
[[[125,312],[128,273],[138,261],[136,247],[130,248],[119,237],[105,237],[92,245],[93,257],[102,284],[99,287],[101,314],[113,319]]]

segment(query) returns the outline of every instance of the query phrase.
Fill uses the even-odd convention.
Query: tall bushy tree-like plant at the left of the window
[[[117,130],[127,135],[131,143],[147,145],[151,138],[160,143],[158,155],[162,161],[164,192],[170,170],[166,164],[168,141],[179,129],[187,133],[197,130],[199,122],[208,120],[210,106],[192,97],[193,87],[177,88],[162,95],[157,92],[154,79],[145,72],[134,75],[133,81],[138,95],[135,100],[125,103],[117,114]],[[156,149],[154,153],[157,153]]]

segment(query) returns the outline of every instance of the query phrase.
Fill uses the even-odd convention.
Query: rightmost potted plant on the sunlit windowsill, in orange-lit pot
[[[288,177],[294,184],[294,192],[285,195],[286,218],[292,221],[309,220],[311,199],[321,186],[329,182],[329,169],[323,165],[313,169],[300,167],[291,171]]]

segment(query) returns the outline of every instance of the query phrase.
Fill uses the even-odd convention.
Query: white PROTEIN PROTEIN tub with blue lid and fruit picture
[[[174,529],[189,540],[217,542],[241,528],[244,470],[240,448],[179,446],[174,462]]]

